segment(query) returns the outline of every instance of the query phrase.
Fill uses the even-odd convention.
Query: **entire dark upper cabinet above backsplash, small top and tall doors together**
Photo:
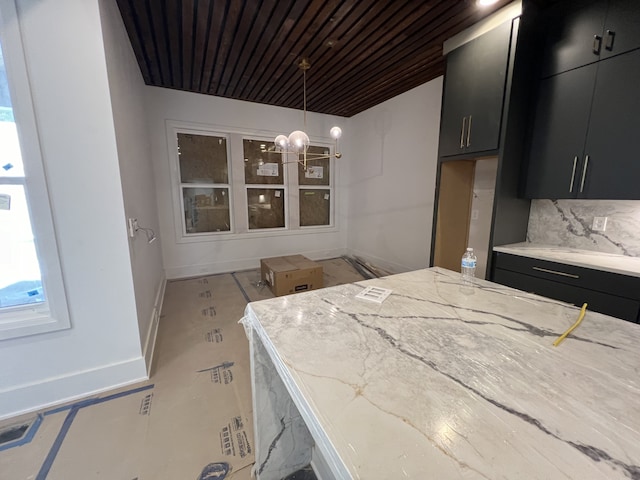
[[[576,3],[585,4],[559,4],[565,16],[545,30],[556,28],[562,41],[549,33],[554,48],[542,76],[553,74],[538,87],[524,196],[640,199],[640,28],[630,24],[640,22],[640,2],[586,2],[565,11]],[[585,53],[584,32],[600,24]]]

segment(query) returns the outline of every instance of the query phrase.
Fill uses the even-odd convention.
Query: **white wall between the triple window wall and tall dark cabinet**
[[[442,77],[351,118],[348,251],[390,272],[429,265]]]

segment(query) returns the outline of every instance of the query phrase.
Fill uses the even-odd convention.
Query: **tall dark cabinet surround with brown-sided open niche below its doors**
[[[522,7],[519,17],[447,56],[430,265],[459,268],[469,245],[478,160],[496,170],[493,208],[482,220],[490,230],[488,242],[474,246],[486,252],[486,276],[494,245],[526,239],[531,202],[520,195],[521,171],[541,49],[539,8],[530,1]]]

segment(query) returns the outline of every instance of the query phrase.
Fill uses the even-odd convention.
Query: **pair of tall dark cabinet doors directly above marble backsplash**
[[[540,81],[528,198],[640,199],[640,49]]]

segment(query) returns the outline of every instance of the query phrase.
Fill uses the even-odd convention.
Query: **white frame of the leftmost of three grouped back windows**
[[[178,188],[173,188],[174,193],[174,205],[176,202],[180,205],[179,216],[175,219],[175,225],[180,225],[180,231],[176,231],[178,241],[183,239],[196,239],[201,240],[203,237],[209,238],[211,236],[224,236],[230,235],[235,232],[234,223],[234,202],[233,202],[233,172],[231,171],[231,139],[228,133],[223,133],[215,130],[204,130],[190,127],[181,127],[178,124],[170,124],[171,133],[169,134],[169,158],[173,159],[171,171],[175,172],[175,181],[177,181]],[[183,133],[187,135],[200,135],[207,137],[221,137],[226,140],[227,146],[227,181],[228,183],[182,183],[182,176],[180,174],[180,155],[178,155],[178,134]],[[173,153],[173,155],[172,155]],[[186,219],[184,218],[184,195],[182,193],[184,188],[227,188],[229,191],[229,230],[221,232],[195,232],[187,233]],[[177,197],[177,198],[176,198]],[[177,230],[177,229],[176,229]]]

